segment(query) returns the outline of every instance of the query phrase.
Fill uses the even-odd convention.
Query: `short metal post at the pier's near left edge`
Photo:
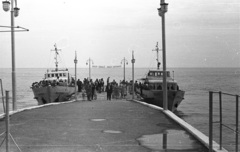
[[[9,151],[9,91],[6,91],[6,115],[5,115],[5,122],[6,122],[6,152]]]

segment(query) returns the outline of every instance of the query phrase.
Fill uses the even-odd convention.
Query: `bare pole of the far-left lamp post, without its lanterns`
[[[16,105],[16,72],[15,72],[15,38],[14,38],[14,1],[11,0],[11,42],[12,42],[12,101],[13,110],[17,110]]]

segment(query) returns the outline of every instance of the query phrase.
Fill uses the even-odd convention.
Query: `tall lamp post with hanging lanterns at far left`
[[[15,38],[14,38],[14,17],[17,17],[19,14],[19,8],[17,7],[17,0],[15,0],[15,7],[14,0],[11,0],[11,3],[9,1],[3,1],[3,10],[9,11],[10,4],[11,4],[11,48],[12,48],[12,101],[13,101],[13,110],[17,109],[16,105],[16,72],[15,72]]]

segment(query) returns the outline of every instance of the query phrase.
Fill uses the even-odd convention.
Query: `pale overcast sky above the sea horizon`
[[[168,67],[240,67],[239,0],[165,0]],[[56,43],[65,67],[155,66],[161,48],[159,0],[18,0],[15,26],[16,68],[48,68]],[[0,25],[10,26],[10,12],[0,11]],[[1,28],[0,30],[5,30]],[[0,33],[0,68],[11,67],[11,35]],[[160,55],[161,57],[161,55]],[[128,65],[131,67],[131,65]]]

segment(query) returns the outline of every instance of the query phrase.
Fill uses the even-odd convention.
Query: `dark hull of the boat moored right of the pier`
[[[163,91],[162,90],[137,90],[144,102],[163,107]],[[172,112],[176,111],[182,100],[184,99],[185,92],[182,90],[168,90],[168,109]]]

